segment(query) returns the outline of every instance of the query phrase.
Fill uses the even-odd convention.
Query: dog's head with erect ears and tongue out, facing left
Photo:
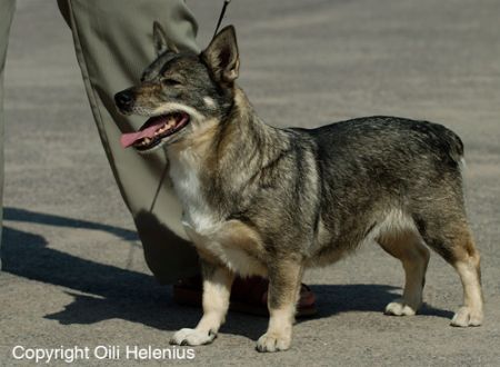
[[[121,138],[123,147],[142,152],[193,136],[207,121],[223,120],[233,105],[240,63],[232,26],[200,54],[179,50],[157,22],[153,41],[158,58],[141,82],[114,96],[120,112],[149,117],[139,131]]]

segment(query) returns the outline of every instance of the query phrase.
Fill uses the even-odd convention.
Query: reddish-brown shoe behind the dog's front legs
[[[268,311],[268,279],[261,277],[237,277],[231,289],[229,309],[259,316],[269,316]],[[173,300],[183,306],[201,306],[201,277],[196,276],[180,279],[173,286]],[[300,299],[297,306],[297,317],[309,317],[318,313],[316,296],[311,289],[301,285]]]

